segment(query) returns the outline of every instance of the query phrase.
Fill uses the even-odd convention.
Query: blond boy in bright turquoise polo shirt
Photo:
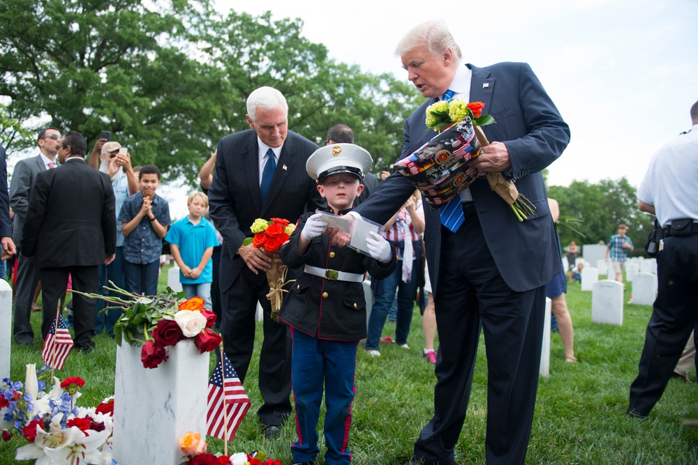
[[[216,230],[203,217],[209,208],[209,198],[203,192],[194,192],[186,200],[189,215],[172,224],[165,236],[170,253],[179,266],[179,282],[186,298],[199,296],[204,307],[211,310],[211,282],[213,265],[211,254],[218,245]]]

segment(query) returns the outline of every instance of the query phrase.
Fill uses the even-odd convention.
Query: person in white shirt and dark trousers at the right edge
[[[639,210],[657,215],[664,238],[657,255],[657,298],[630,385],[631,417],[646,418],[662,397],[698,323],[698,102],[690,113],[693,127],[655,153],[637,192]]]

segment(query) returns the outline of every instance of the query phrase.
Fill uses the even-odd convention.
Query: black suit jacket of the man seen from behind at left
[[[22,233],[22,255],[39,268],[94,266],[117,245],[117,215],[109,176],[68,158],[36,176]]]

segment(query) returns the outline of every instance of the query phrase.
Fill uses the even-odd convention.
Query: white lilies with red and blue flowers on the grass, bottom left
[[[9,441],[21,436],[27,444],[17,449],[17,460],[38,464],[112,463],[114,398],[94,408],[75,406],[84,379],[74,376],[47,384],[47,367],[27,365],[27,379],[0,383],[0,429]]]

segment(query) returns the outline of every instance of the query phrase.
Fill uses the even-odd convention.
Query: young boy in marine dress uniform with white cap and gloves
[[[359,184],[371,168],[371,155],[354,144],[319,148],[306,162],[317,180],[318,192],[327,199],[328,211],[346,214],[364,186]],[[318,418],[323,385],[325,405],[325,462],[348,464],[351,404],[356,353],[366,337],[366,301],[362,281],[369,271],[374,279],[389,276],[396,266],[392,247],[380,234],[371,233],[366,244],[371,257],[349,247],[331,245],[323,233],[327,222],[321,213],[299,218],[296,230],[279,255],[304,273],[292,285],[279,312],[291,327],[291,385],[298,441],[291,445],[296,464],[311,464],[318,455]]]

